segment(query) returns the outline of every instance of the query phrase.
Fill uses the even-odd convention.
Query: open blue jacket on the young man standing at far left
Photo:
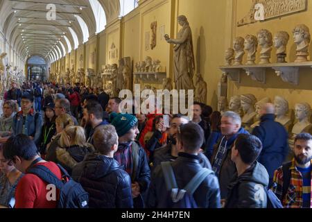
[[[17,112],[13,117],[12,130],[14,135],[23,133],[23,112]],[[40,138],[42,131],[42,114],[40,112],[31,112],[26,116],[25,135],[34,137],[33,141],[40,146]]]

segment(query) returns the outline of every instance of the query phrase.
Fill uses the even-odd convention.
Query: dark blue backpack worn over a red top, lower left
[[[54,173],[42,165],[28,169],[27,173],[35,174],[48,184],[55,185],[60,190],[58,208],[88,208],[89,194],[78,182],[69,176],[60,164],[57,165],[62,172],[62,180],[58,179]]]

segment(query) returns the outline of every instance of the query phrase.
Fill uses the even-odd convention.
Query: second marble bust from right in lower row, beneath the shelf
[[[291,126],[291,118],[287,117],[287,113],[289,110],[288,101],[281,96],[275,96],[274,99],[274,106],[275,106],[275,121],[281,123],[287,132],[290,133],[290,126]]]

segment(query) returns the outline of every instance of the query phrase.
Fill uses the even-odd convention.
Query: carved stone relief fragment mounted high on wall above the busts
[[[239,20],[237,26],[300,12],[306,8],[306,0],[252,0],[248,15]]]

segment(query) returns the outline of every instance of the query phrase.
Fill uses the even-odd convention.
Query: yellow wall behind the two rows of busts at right
[[[251,6],[251,0],[234,0],[234,12],[236,12],[236,17],[234,14],[232,24],[236,24],[238,19],[243,18],[248,14]],[[310,2],[309,2],[310,3]],[[312,5],[308,3],[308,10],[304,12],[295,13],[293,15],[287,15],[280,18],[270,19],[265,22],[257,22],[255,24],[249,24],[246,26],[236,27],[233,26],[234,36],[245,37],[247,34],[257,35],[257,32],[261,28],[266,28],[270,31],[273,36],[278,31],[287,31],[291,36],[287,45],[287,58],[288,62],[293,62],[295,60],[295,49],[296,45],[293,42],[292,30],[297,24],[306,24],[312,32]],[[231,38],[229,37],[228,40]],[[230,42],[229,42],[230,44]],[[257,61],[259,61],[259,51],[257,52]],[[309,48],[310,54],[312,53],[312,45]],[[275,49],[272,50],[271,62],[276,62]],[[222,61],[222,60],[221,60]],[[298,86],[291,85],[289,83],[284,83],[281,78],[277,77],[274,71],[270,70],[267,73],[266,84],[262,85],[260,83],[254,82],[250,77],[243,75],[241,84],[230,84],[229,96],[234,94],[254,94],[257,99],[262,99],[269,96],[274,99],[276,95],[284,96],[291,108],[294,108],[295,103],[298,102],[308,102],[312,105],[312,76],[311,69],[303,69],[300,71],[300,83]]]

